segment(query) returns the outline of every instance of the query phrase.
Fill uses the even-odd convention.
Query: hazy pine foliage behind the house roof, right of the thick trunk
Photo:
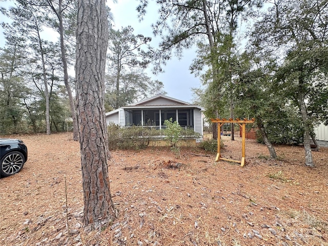
[[[163,83],[151,80],[145,69],[151,61],[150,37],[134,35],[131,26],[110,30],[106,78],[107,107],[119,107],[156,94],[165,94]]]

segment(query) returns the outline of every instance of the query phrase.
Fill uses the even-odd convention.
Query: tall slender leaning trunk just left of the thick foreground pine
[[[76,110],[75,110],[75,104],[74,104],[74,99],[73,99],[73,95],[72,95],[72,90],[68,83],[68,69],[67,69],[66,50],[65,50],[65,44],[64,44],[64,25],[63,25],[63,15],[61,13],[61,11],[62,11],[61,10],[61,0],[59,0],[59,3],[58,3],[58,11],[56,11],[54,8],[53,8],[53,11],[55,11],[57,13],[57,17],[59,20],[60,52],[61,52],[61,61],[63,62],[64,83],[65,83],[68,98],[70,101],[70,108],[71,108],[71,114],[72,114],[72,119],[73,119],[73,140],[77,140],[78,139],[78,124],[77,124]]]

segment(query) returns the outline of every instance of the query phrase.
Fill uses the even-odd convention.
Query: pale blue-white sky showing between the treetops
[[[12,5],[12,2],[0,1],[0,6],[8,7]],[[136,11],[138,3],[138,0],[118,0],[117,3],[114,3],[112,0],[107,1],[107,5],[111,8],[114,17],[113,28],[117,30],[130,25],[134,28],[134,34],[152,37],[151,46],[156,47],[159,39],[154,37],[151,24],[157,20],[158,6],[156,6],[154,1],[149,1],[150,5],[147,8],[144,20],[139,22]],[[8,19],[6,17],[0,15],[0,22],[7,21]],[[0,27],[0,47],[4,47],[5,45],[2,33],[3,29]],[[49,33],[54,34],[53,31],[48,30],[45,35],[52,35]],[[193,95],[191,88],[199,88],[201,86],[199,78],[191,74],[189,70],[189,66],[195,58],[196,53],[195,50],[190,49],[183,51],[182,55],[181,59],[172,56],[172,59],[167,62],[167,65],[162,67],[165,72],[154,75],[151,72],[151,68],[149,68],[147,73],[153,80],[162,81],[167,96],[192,103]]]

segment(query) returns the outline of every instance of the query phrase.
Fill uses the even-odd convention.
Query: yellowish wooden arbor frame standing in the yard
[[[246,124],[247,123],[254,123],[255,119],[211,119],[211,121],[213,123],[217,123],[217,155],[215,158],[215,161],[219,161],[219,160],[227,160],[227,161],[233,161],[233,162],[237,162],[240,163],[240,166],[243,167],[245,164],[245,131],[246,131]],[[231,160],[231,159],[226,159],[226,158],[222,158],[221,157],[221,126],[224,123],[237,123],[241,129],[242,129],[242,134],[241,134],[241,161],[240,160]]]

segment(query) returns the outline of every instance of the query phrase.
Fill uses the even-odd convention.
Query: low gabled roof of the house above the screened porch
[[[198,105],[193,105],[186,103],[186,101],[181,101],[173,97],[165,96],[165,95],[156,95],[141,101],[138,101],[137,103],[121,107],[119,109],[115,109],[113,111],[110,111],[106,113],[106,116],[112,115],[115,113],[118,113],[118,111],[123,109],[158,109],[158,108],[197,108],[200,110],[205,110],[203,107],[200,107]]]

